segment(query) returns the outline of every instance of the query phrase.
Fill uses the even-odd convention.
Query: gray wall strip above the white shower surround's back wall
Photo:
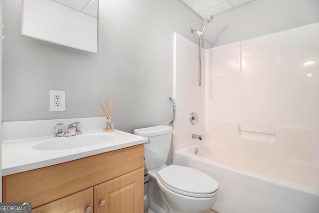
[[[214,16],[205,48],[319,22],[319,0],[253,0]]]

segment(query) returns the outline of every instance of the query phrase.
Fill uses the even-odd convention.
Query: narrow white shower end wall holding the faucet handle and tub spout
[[[203,50],[202,64],[205,62],[204,59]],[[175,150],[198,143],[199,140],[193,139],[192,134],[204,135],[205,78],[203,72],[202,85],[198,86],[198,45],[174,33]],[[198,115],[198,122],[195,125],[189,120],[192,112]]]

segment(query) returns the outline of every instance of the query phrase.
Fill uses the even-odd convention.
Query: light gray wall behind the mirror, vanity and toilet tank
[[[103,116],[120,104],[115,128],[167,124],[173,93],[173,32],[197,42],[202,19],[180,0],[100,0],[99,54],[21,36],[21,1],[3,1],[3,121]],[[49,90],[66,111],[49,112]]]

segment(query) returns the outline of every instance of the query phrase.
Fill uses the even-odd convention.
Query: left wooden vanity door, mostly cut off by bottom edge
[[[32,209],[32,213],[93,213],[93,187]],[[88,208],[91,208],[89,211]]]

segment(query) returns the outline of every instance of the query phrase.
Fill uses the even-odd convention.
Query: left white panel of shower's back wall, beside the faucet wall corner
[[[240,42],[206,50],[206,137],[218,120],[240,117]]]

